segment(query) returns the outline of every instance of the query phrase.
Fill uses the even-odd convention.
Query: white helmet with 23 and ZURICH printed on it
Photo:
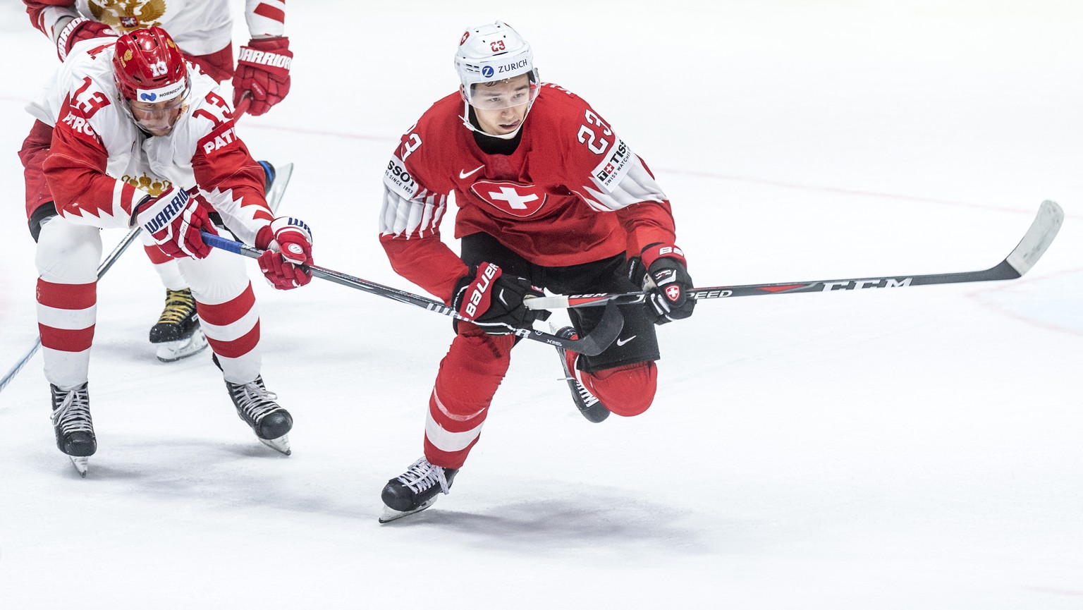
[[[471,27],[462,33],[455,51],[455,70],[462,83],[462,95],[471,105],[477,105],[472,99],[473,86],[481,82],[529,75],[531,102],[537,96],[540,85],[530,43],[504,22]]]

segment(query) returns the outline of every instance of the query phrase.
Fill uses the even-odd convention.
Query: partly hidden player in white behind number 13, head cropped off
[[[233,63],[233,17],[230,0],[23,0],[30,23],[56,46],[61,61],[81,40],[159,26],[173,36],[184,56],[219,82],[233,80],[237,115],[262,115],[289,92],[293,54],[284,36],[285,0],[246,0],[245,20],[251,34]],[[264,164],[269,179],[274,168]],[[126,176],[129,183],[154,189],[147,176]],[[51,203],[51,202],[50,202]],[[28,202],[29,205],[29,202]],[[30,232],[37,234],[32,211]],[[172,362],[207,347],[195,300],[173,259],[146,233],[143,248],[166,286],[166,307],[151,328],[158,359]]]

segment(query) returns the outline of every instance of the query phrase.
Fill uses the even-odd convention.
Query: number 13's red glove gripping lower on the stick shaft
[[[256,247],[264,250],[260,271],[272,286],[289,290],[312,282],[301,265],[312,264],[312,231],[303,220],[278,217],[256,234]]]

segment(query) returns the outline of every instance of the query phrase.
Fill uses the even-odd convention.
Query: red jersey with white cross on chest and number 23
[[[673,243],[669,202],[627,143],[583,99],[545,85],[510,155],[486,154],[459,93],[403,135],[384,171],[380,241],[394,270],[445,301],[467,270],[440,239],[448,196],[455,236],[496,237],[526,260],[566,267]]]

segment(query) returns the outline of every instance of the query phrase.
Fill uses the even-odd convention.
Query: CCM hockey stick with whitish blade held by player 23
[[[901,288],[903,286],[928,286],[932,284],[962,284],[965,282],[996,282],[1015,280],[1034,267],[1057,236],[1065,212],[1055,202],[1042,202],[1038,216],[1022,236],[1019,245],[1007,258],[984,271],[962,273],[932,273],[928,275],[893,275],[882,277],[852,277],[845,280],[817,280],[813,282],[783,282],[778,284],[745,284],[742,286],[709,286],[693,288],[692,298],[721,299],[728,297],[753,297],[756,295],[790,295],[794,293],[831,293],[836,290],[860,290],[864,288]],[[648,293],[609,293],[597,295],[556,295],[538,297],[526,301],[529,309],[566,309],[595,307],[608,303],[635,304],[647,300]]]

